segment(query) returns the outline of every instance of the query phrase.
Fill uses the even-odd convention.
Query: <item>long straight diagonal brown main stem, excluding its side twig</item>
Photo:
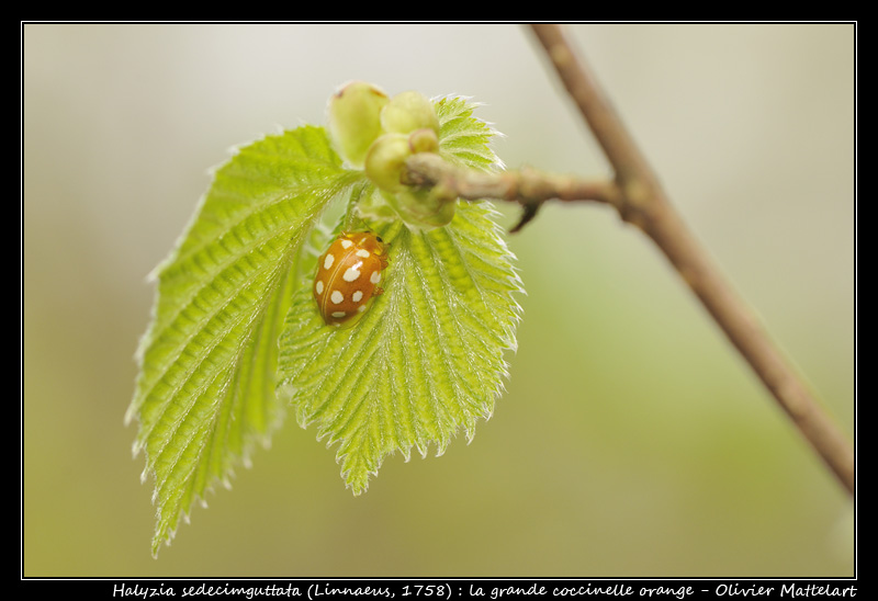
[[[533,25],[532,30],[616,171],[622,192],[622,217],[640,226],[662,249],[802,435],[853,495],[855,456],[847,438],[690,234],[561,27]]]

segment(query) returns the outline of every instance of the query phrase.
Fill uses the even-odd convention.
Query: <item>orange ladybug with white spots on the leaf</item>
[[[371,231],[342,231],[320,256],[314,299],[327,325],[353,324],[369,300],[384,292],[378,284],[387,267],[389,246]]]

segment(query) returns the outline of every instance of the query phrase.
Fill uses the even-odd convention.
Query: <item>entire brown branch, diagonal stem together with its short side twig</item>
[[[407,161],[410,183],[435,184],[443,194],[470,200],[489,197],[517,202],[526,209],[522,224],[551,199],[612,205],[622,219],[640,227],[664,252],[801,434],[853,495],[855,456],[847,438],[691,235],[561,29],[556,25],[532,25],[532,29],[604,149],[615,170],[615,182],[586,182],[533,171],[473,173],[450,167],[436,155],[420,154]]]

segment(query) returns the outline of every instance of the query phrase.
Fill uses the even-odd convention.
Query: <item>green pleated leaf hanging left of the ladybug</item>
[[[249,461],[283,417],[278,337],[300,249],[327,202],[360,178],[318,127],[250,144],[221,167],[156,270],[154,319],[126,419],[155,477],[153,552],[193,501]]]

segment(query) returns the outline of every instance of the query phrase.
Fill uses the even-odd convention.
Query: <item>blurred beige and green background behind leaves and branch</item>
[[[685,218],[855,419],[855,29],[576,25]],[[665,260],[606,207],[510,237],[528,295],[472,444],[345,489],[288,419],[149,554],[124,427],[170,251],[228,149],[350,79],[463,94],[510,167],[607,174],[517,25],[23,26],[22,570],[36,576],[851,576],[854,508]],[[502,207],[504,225],[515,207]]]

